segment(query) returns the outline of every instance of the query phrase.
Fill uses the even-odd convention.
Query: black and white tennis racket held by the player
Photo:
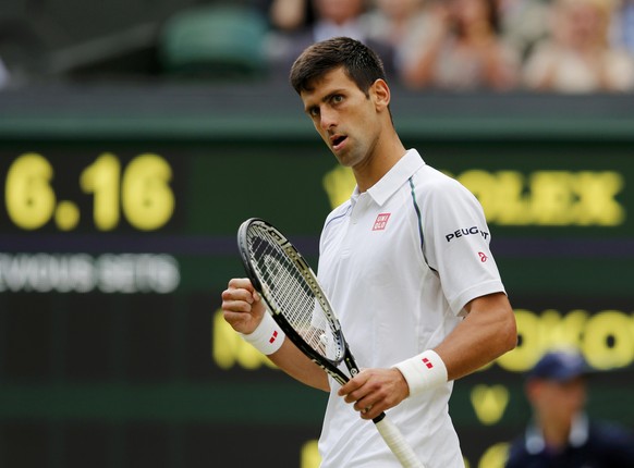
[[[359,371],[339,320],[317,276],[297,249],[276,227],[252,218],[237,231],[246,274],[273,319],[300,350],[343,385]],[[424,468],[399,429],[385,412],[373,419],[379,433],[406,468]]]

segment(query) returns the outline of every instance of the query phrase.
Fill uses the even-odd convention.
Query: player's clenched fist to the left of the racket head
[[[233,330],[247,335],[259,325],[266,308],[248,279],[234,278],[222,292],[222,312]]]

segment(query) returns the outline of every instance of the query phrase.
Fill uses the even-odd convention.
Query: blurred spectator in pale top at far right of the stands
[[[528,88],[560,93],[634,89],[634,60],[610,46],[612,0],[556,0],[550,38],[527,59]]]

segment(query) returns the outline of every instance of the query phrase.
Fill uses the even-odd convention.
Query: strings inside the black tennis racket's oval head
[[[284,250],[277,237],[257,225],[251,226],[247,244],[253,266],[276,311],[313,349],[330,360],[341,360],[343,348],[339,335],[332,333],[326,312],[295,261],[294,250]]]

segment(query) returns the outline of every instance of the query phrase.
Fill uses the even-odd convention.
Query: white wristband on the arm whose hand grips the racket
[[[410,386],[410,396],[447,383],[447,367],[440,356],[431,349],[405,359],[394,367],[405,378]]]

